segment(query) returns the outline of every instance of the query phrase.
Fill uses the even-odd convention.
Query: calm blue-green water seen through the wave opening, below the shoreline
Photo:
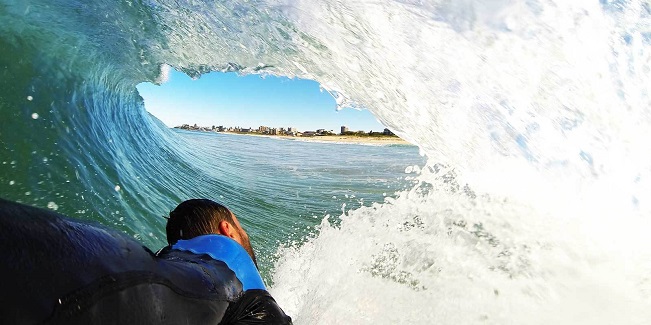
[[[413,145],[315,143],[175,130],[205,172],[193,186],[227,205],[248,230],[262,268],[280,245],[316,234],[326,216],[384,202],[413,186],[407,166],[425,164]],[[215,164],[219,161],[219,164]],[[215,180],[216,184],[202,182]]]

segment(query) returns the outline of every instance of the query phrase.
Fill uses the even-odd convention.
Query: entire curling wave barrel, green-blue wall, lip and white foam
[[[429,162],[279,250],[272,293],[297,323],[646,324],[649,8],[2,0],[0,194],[159,245],[164,220],[139,216],[232,184],[136,84],[169,67],[314,79]]]

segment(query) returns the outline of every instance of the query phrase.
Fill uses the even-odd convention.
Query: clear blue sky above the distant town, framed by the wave
[[[213,72],[192,80],[172,70],[161,86],[138,85],[145,108],[167,126],[198,124],[253,127],[296,127],[339,132],[382,131],[367,110],[337,111],[332,96],[311,80]]]

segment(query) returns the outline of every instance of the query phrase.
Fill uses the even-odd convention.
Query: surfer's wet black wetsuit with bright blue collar
[[[241,254],[222,261],[189,244],[154,254],[120,232],[0,199],[0,324],[291,324],[261,280],[240,281],[242,268],[259,279],[250,258],[233,267]]]

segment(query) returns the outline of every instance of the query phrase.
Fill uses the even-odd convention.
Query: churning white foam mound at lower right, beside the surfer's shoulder
[[[646,249],[593,238],[572,210],[533,209],[450,176],[425,168],[397,198],[349,210],[337,226],[324,219],[317,237],[280,250],[274,296],[306,324],[649,320],[648,268],[630,267],[648,267],[637,254]],[[603,235],[620,230],[644,238],[629,225]]]

